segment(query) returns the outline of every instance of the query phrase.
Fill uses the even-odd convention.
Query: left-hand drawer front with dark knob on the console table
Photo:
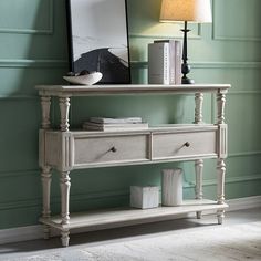
[[[146,135],[74,137],[74,165],[147,159]]]

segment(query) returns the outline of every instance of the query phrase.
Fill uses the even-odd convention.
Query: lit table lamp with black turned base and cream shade
[[[184,21],[184,48],[182,48],[182,84],[192,84],[194,80],[187,77],[190,66],[187,61],[187,28],[188,22],[212,22],[210,0],[163,0],[160,22]]]

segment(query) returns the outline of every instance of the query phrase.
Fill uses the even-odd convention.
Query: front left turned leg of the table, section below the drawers
[[[60,177],[60,188],[61,188],[61,218],[62,218],[62,225],[69,225],[70,223],[70,212],[69,212],[69,201],[70,201],[70,171],[61,171]],[[69,246],[69,229],[63,229],[61,231],[61,240],[62,246],[67,247]]]

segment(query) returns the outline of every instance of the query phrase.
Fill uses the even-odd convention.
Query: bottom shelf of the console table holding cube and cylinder
[[[95,210],[70,215],[70,223],[62,225],[60,217],[41,218],[40,222],[49,225],[59,230],[86,228],[86,230],[98,230],[105,228],[124,227],[158,220],[171,219],[189,212],[206,210],[222,210],[228,208],[227,203],[218,205],[216,201],[185,200],[179,207],[158,207],[153,209],[114,208]]]

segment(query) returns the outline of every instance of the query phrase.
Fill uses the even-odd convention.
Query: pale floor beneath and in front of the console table
[[[207,261],[261,260],[261,208],[228,212],[222,226],[216,216],[72,234],[60,239],[0,246],[0,260]]]

